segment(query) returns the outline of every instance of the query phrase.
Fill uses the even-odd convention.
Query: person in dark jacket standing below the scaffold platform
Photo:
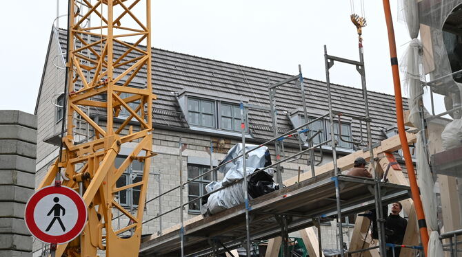
[[[408,221],[403,217],[399,216],[399,213],[403,210],[403,205],[396,202],[392,203],[392,213],[388,215],[385,221],[385,228],[391,233],[386,236],[386,242],[392,243],[395,245],[402,245],[404,234],[406,232],[406,227],[408,226]],[[394,256],[399,256],[401,248],[394,248]],[[389,248],[387,250],[387,257],[393,256],[393,249]]]

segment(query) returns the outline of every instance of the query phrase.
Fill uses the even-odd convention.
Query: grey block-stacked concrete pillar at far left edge
[[[24,207],[34,192],[37,117],[0,110],[0,257],[32,256]]]

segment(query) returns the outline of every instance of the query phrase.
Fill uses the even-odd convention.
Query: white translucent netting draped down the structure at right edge
[[[445,107],[446,111],[460,107],[462,91],[462,73],[453,72],[462,69],[462,34],[450,29],[452,25],[461,25],[459,17],[453,15],[449,24],[443,25],[454,8],[461,5],[462,0],[401,0],[403,20],[408,26],[412,39],[405,56],[401,60],[403,72],[403,87],[409,92],[410,122],[419,129],[423,128],[422,118],[432,118],[423,106],[423,87],[425,74],[430,74],[431,90],[444,96],[445,101],[435,102],[436,107]],[[462,5],[461,5],[462,6]],[[461,12],[462,16],[462,12]],[[455,23],[455,24],[454,24]],[[421,41],[417,36],[421,35]],[[459,35],[461,34],[461,35]],[[425,70],[424,70],[425,69]],[[440,112],[441,112],[441,108]],[[451,111],[452,118],[459,119],[461,113]],[[430,122],[430,120],[428,120]],[[441,149],[437,146],[443,142],[443,148],[454,147],[460,143],[459,133],[462,134],[462,122],[454,120],[446,126],[443,135],[425,135],[419,132],[416,144],[416,166],[421,190],[421,199],[425,213],[425,219],[429,229],[430,241],[428,243],[428,256],[443,256],[443,247],[439,241],[438,219],[436,216],[437,202],[434,194],[434,179],[428,163],[428,151],[425,149]],[[432,131],[430,131],[432,133]],[[425,136],[431,137],[431,146],[425,146]],[[442,140],[437,140],[438,137]],[[459,142],[458,142],[459,140]]]

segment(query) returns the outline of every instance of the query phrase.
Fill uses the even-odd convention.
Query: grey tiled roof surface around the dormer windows
[[[66,52],[66,31],[60,30],[59,38],[63,52]],[[120,56],[122,47],[114,45],[116,56]],[[120,74],[122,69],[114,72]],[[139,76],[143,74],[145,71],[141,70]],[[205,89],[235,96],[237,100],[242,95],[250,100],[250,104],[270,107],[267,78],[274,83],[291,76],[293,75],[152,48],[152,87],[153,92],[158,96],[158,100],[154,102],[154,126],[185,128],[185,123],[181,119],[181,110],[172,92]],[[143,78],[139,81],[143,81]],[[325,82],[308,78],[304,78],[303,82],[308,108],[327,111]],[[388,86],[392,87],[392,85]],[[331,89],[335,111],[365,116],[361,89],[336,84],[331,84]],[[280,131],[288,131],[292,126],[285,111],[290,113],[302,107],[301,91],[294,82],[290,82],[277,90],[276,98],[278,126]],[[381,141],[385,139],[381,129],[396,124],[394,96],[368,91],[368,98],[373,141]],[[407,109],[407,102],[403,104]],[[249,127],[254,137],[270,139],[273,135],[269,113],[250,110]],[[353,137],[359,138],[359,122],[356,120],[352,122],[352,133]],[[365,137],[365,124],[363,124],[363,136]]]

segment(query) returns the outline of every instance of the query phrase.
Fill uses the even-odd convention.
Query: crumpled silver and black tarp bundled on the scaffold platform
[[[245,144],[245,153],[248,153],[248,151],[257,147],[257,145]],[[229,150],[228,155],[225,156],[220,164],[225,164],[241,154],[242,144],[236,144]],[[242,158],[235,159],[234,161],[230,161],[228,164],[219,168],[219,171],[223,172],[225,177],[221,181],[212,181],[205,186],[205,190],[207,192],[212,192],[213,190],[217,190],[222,187],[223,189],[210,194],[208,199],[203,199],[203,202],[206,201],[202,208],[202,214],[204,216],[216,214],[244,202],[244,188],[242,180],[244,175],[242,161]],[[247,170],[248,175],[249,199],[253,199],[279,189],[279,185],[274,183],[272,180],[274,170],[272,168],[261,170],[261,168],[269,165],[271,165],[271,157],[270,151],[266,146],[262,146],[261,148],[246,154],[245,170]]]

